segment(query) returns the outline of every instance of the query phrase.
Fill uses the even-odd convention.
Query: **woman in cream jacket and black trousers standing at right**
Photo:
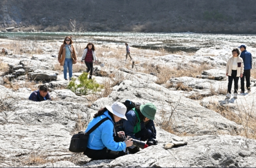
[[[240,51],[235,48],[232,50],[233,56],[231,56],[227,60],[226,65],[226,76],[229,77],[229,84],[227,85],[227,95],[226,97],[231,97],[231,87],[232,82],[234,80],[234,98],[237,98],[237,90],[238,90],[238,80],[239,77],[242,78],[244,73],[244,62],[243,59],[240,58]]]

